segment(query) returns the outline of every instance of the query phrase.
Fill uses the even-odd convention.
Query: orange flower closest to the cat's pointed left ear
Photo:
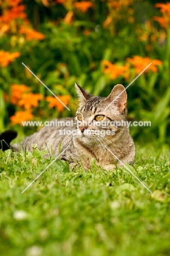
[[[63,96],[57,96],[57,97],[59,98],[60,101],[64,103],[64,105],[68,105],[71,98],[70,95],[63,95]],[[62,112],[63,109],[65,108],[64,105],[60,101],[58,101],[57,98],[53,96],[47,96],[45,99],[50,103],[48,105],[49,108],[56,107],[59,112]]]

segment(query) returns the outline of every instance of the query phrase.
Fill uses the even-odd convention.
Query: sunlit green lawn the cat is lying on
[[[1,255],[169,255],[169,155],[137,146],[131,170],[153,194],[125,168],[69,172],[59,161],[21,194],[51,160],[0,152]]]

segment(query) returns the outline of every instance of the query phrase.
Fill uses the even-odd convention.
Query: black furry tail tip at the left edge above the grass
[[[0,149],[3,151],[10,148],[10,142],[15,139],[17,132],[13,130],[4,131],[0,134]]]

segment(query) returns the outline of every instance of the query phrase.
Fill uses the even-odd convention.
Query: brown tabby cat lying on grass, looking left
[[[46,157],[61,153],[60,159],[68,161],[71,169],[81,162],[87,170],[92,159],[105,170],[112,170],[116,165],[133,165],[135,144],[129,127],[117,125],[126,121],[127,116],[124,86],[114,86],[108,97],[93,96],[77,84],[75,87],[79,100],[75,118],[53,119],[50,123],[52,126],[44,126],[26,137],[20,146],[12,144],[11,149],[16,152],[20,147],[27,147],[32,151],[33,144],[38,144],[38,149],[48,148]],[[65,125],[55,126],[56,121]]]

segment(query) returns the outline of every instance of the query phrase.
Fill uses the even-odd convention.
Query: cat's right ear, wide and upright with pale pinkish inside
[[[114,106],[118,107],[120,112],[126,109],[127,94],[124,86],[122,84],[115,85],[110,95],[105,98],[105,101],[107,101],[108,104],[113,103]]]

